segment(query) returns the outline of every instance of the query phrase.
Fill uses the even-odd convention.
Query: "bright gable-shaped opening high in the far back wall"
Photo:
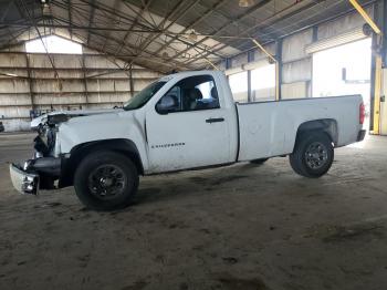
[[[50,35],[25,42],[25,51],[30,53],[82,54],[82,45],[56,35]]]

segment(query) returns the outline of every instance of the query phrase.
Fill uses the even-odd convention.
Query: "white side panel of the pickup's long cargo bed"
[[[332,120],[341,147],[356,142],[360,95],[237,103],[239,160],[250,160],[293,152],[299,127],[308,121]],[[339,124],[339,125],[337,125]],[[345,130],[344,130],[345,128]]]

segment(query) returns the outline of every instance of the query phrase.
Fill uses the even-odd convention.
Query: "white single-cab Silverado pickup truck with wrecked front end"
[[[365,136],[359,95],[239,104],[217,71],[164,76],[123,110],[42,120],[34,158],[10,165],[13,186],[36,194],[73,185],[96,210],[129,205],[139,175],[289,155],[294,172],[320,177],[334,148]]]

